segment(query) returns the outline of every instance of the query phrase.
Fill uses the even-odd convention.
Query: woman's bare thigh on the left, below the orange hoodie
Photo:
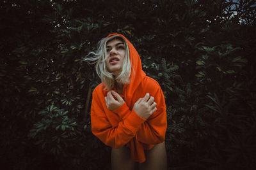
[[[112,148],[111,151],[111,169],[112,170],[136,170],[138,163],[131,158],[130,149],[123,146],[122,148]]]

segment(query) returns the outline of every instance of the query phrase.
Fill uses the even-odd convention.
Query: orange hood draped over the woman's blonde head
[[[127,104],[131,106],[131,103],[130,103],[131,97],[133,96],[134,91],[137,89],[138,85],[140,85],[143,78],[145,78],[146,74],[142,70],[140,55],[138,54],[138,52],[136,51],[132,43],[127,38],[125,38],[125,36],[123,36],[122,34],[116,34],[116,33],[109,34],[108,37],[115,36],[115,35],[118,35],[124,38],[129,47],[129,54],[130,54],[129,57],[131,60],[132,70],[131,70],[131,76],[130,76],[130,83],[125,84],[124,88],[125,88],[125,95],[127,96],[127,102],[128,102]]]

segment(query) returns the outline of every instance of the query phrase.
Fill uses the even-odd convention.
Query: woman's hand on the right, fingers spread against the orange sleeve
[[[147,93],[143,98],[138,99],[134,103],[133,110],[142,118],[147,119],[156,111],[156,102],[154,97],[150,97]]]

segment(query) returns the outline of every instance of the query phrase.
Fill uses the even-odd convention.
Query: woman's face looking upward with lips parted
[[[125,57],[125,46],[123,41],[120,39],[113,39],[107,43],[107,58],[106,66],[110,73],[118,76],[123,67],[124,57]]]

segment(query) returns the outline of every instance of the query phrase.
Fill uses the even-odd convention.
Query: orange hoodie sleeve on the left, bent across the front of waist
[[[112,127],[104,107],[100,103],[97,91],[93,91],[92,108],[91,108],[92,133],[97,136],[103,143],[112,148],[120,148],[128,143],[138,131],[145,119],[138,116],[134,111],[120,121],[116,127]]]

